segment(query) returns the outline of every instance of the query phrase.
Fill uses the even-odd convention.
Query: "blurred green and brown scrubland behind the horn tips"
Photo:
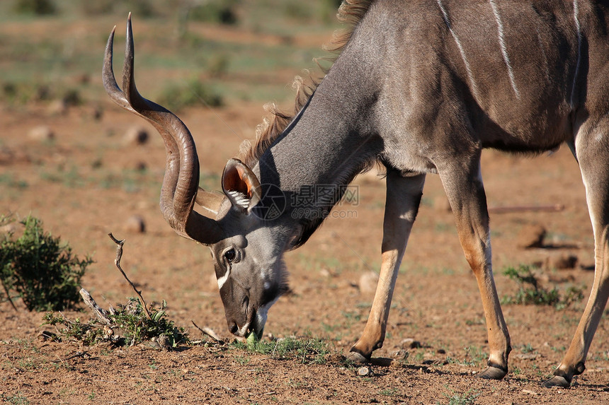
[[[339,28],[340,0],[3,0],[0,103],[95,103],[111,28],[115,71],[133,14],[142,93],[173,110],[240,101],[283,102]],[[105,100],[105,99],[104,99]],[[106,102],[106,101],[104,101]]]

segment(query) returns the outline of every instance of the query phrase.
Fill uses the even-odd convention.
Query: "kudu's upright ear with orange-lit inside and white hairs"
[[[242,211],[249,210],[260,201],[260,182],[239,159],[228,161],[222,173],[222,191],[232,205]]]

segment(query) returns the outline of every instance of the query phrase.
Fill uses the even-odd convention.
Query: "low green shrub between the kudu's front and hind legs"
[[[561,295],[556,287],[552,290],[543,288],[530,266],[520,264],[518,269],[508,267],[503,274],[519,285],[518,291],[513,297],[507,295],[503,297],[501,303],[504,304],[554,305],[561,309],[584,299],[581,288],[570,287],[565,295]]]

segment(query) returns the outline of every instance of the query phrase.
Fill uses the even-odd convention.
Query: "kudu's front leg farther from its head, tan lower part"
[[[508,372],[510,335],[493,278],[489,213],[486,209],[479,154],[466,161],[465,166],[462,163],[446,162],[442,168],[438,168],[438,172],[453,209],[465,258],[476,276],[482,296],[490,356],[488,367],[478,376],[501,380]]]

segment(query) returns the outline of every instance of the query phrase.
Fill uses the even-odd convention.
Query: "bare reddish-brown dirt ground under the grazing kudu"
[[[74,252],[96,261],[82,286],[103,306],[133,295],[113,264],[113,242],[125,238],[123,268],[149,301],[166,300],[169,317],[200,332],[191,320],[224,339],[227,331],[212,262],[206,247],[178,237],[164,223],[158,194],[164,148],[150,127],[147,143],[123,134],[137,117],[112,105],[99,86],[101,118],[93,107],[63,114],[46,106],[0,110],[0,213],[40,218]],[[203,184],[219,188],[224,163],[261,122],[260,103],[181,112],[193,131]],[[45,125],[55,139],[30,131]],[[562,211],[491,213],[493,259],[499,294],[517,285],[508,266],[550,263],[538,272],[545,286],[584,288],[570,307],[503,305],[513,351],[510,373],[483,381],[488,353],[482,304],[446,210],[437,176],[430,175],[394,293],[385,346],[368,375],[341,355],[363,331],[372,296],[360,276],[378,271],[385,182],[375,172],[358,177],[357,204],[343,204],[307,244],[286,256],[292,294],[269,312],[266,334],[318,336],[333,355],[323,364],[277,360],[233,346],[109,348],[41,341],[42,313],[0,303],[0,399],[15,404],[607,404],[609,322],[596,332],[586,372],[570,389],[543,389],[571,341],[593,279],[593,237],[584,187],[567,148],[537,158],[486,151],[483,175],[491,208],[554,206]],[[126,226],[141,216],[144,233]],[[519,247],[519,235],[542,225],[542,247]],[[572,269],[554,269],[556,257],[575,255]],[[88,318],[83,312],[68,317]],[[606,315],[606,312],[605,312]],[[266,338],[268,339],[268,337]],[[419,344],[412,344],[412,339]],[[411,347],[414,346],[414,347]],[[393,358],[399,361],[384,365]]]

